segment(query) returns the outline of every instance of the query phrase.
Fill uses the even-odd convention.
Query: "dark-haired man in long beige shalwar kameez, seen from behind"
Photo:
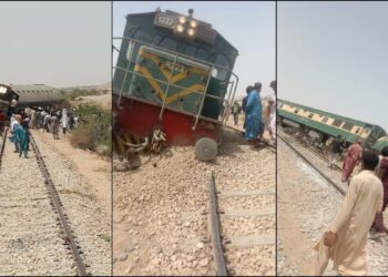
[[[323,275],[329,259],[338,275],[367,275],[368,232],[382,207],[382,184],[374,173],[377,164],[377,155],[367,151],[363,154],[363,171],[351,178],[334,223],[314,246],[317,256],[310,275]]]

